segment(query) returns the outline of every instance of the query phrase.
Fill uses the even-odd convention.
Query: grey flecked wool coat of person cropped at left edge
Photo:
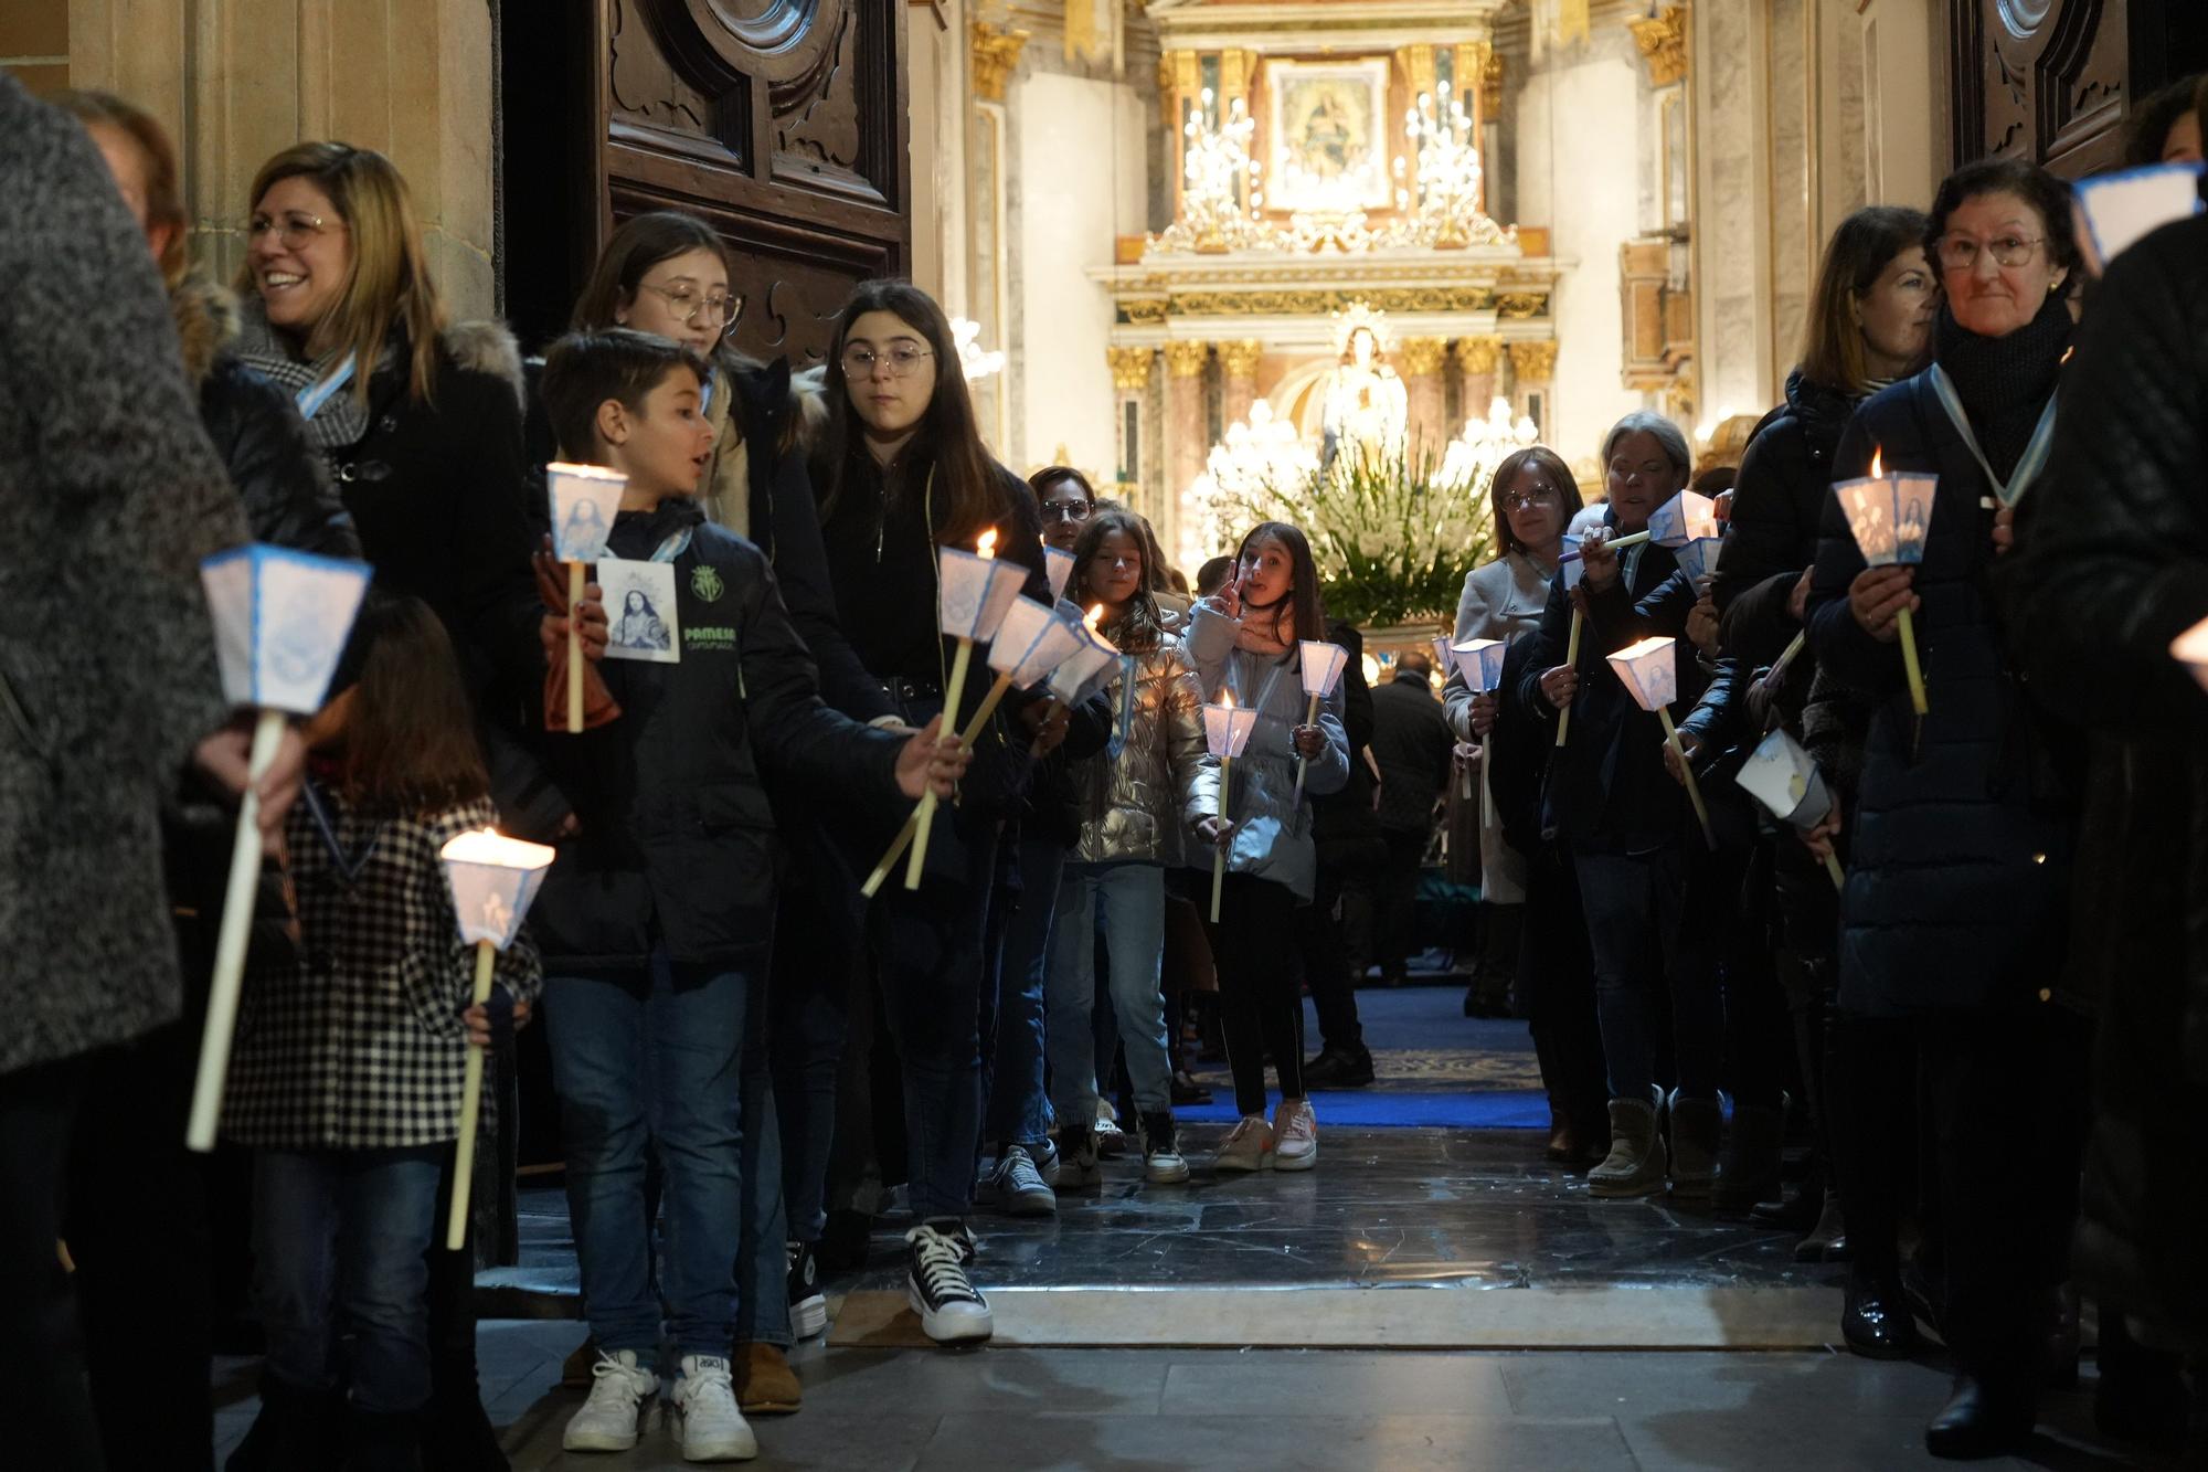
[[[199,561],[245,517],[146,236],[0,75],[0,1074],[177,1017],[159,811],[227,714]]]

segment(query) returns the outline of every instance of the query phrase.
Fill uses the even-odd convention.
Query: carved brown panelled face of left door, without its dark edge
[[[910,254],[905,7],[596,0],[598,239],[691,210],[729,241],[735,345],[817,362],[857,281]]]

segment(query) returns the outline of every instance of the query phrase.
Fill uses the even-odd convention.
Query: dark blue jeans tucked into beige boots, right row
[[[1610,1061],[1612,1098],[1647,1098],[1656,1085],[1656,988],[1671,995],[1671,1048],[1678,1090],[1718,1096],[1724,1056],[1724,992],[1718,986],[1713,897],[1689,904],[1691,864],[1682,849],[1572,855],[1594,950],[1594,1010]]]

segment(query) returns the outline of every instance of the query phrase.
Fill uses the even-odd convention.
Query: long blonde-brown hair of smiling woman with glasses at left
[[[369,380],[395,325],[406,327],[408,393],[428,402],[437,389],[437,336],[446,327],[444,298],[431,278],[422,248],[422,219],[397,166],[373,148],[351,144],[291,144],[254,175],[247,208],[285,179],[307,179],[329,194],[338,219],[351,232],[353,263],[329,314],[316,323],[309,343],[338,362],[360,365],[351,391],[369,402]],[[261,294],[252,263],[238,267],[238,292]],[[309,347],[309,351],[314,351]],[[320,356],[320,354],[316,354]]]

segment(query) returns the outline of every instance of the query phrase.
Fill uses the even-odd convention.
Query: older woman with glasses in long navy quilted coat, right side
[[[1833,497],[1808,606],[1819,670],[1872,701],[1839,999],[1917,1034],[1939,1191],[1928,1249],[1956,1361],[1925,1443],[1983,1457],[2031,1434],[2042,1375],[2064,1357],[2076,1373],[2076,1339],[2053,1333],[2082,1147],[2084,1026],[2056,992],[2076,740],[2027,696],[1985,592],[2053,438],[2078,265],[2069,190],[2007,159],[1956,170],[1925,252],[1947,294],[1932,365],[1866,400],[1833,462],[1835,480],[1866,475],[1872,455],[1886,473],[1939,475],[1923,561],[1868,568]]]

